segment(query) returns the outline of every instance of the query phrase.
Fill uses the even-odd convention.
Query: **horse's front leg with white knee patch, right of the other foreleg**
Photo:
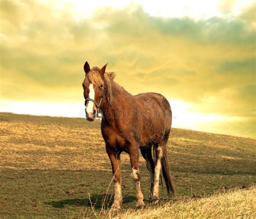
[[[136,186],[136,197],[137,197],[137,208],[144,207],[145,204],[143,202],[143,194],[140,189],[140,173],[139,173],[139,148],[137,145],[132,145],[129,150],[130,161],[132,166],[132,179]]]

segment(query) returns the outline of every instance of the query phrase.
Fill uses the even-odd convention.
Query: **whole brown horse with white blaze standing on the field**
[[[159,201],[159,175],[162,169],[167,193],[176,195],[166,144],[172,124],[169,102],[158,93],[132,95],[113,81],[114,73],[106,73],[106,65],[99,69],[84,64],[83,81],[86,119],[94,121],[99,111],[103,114],[102,135],[106,152],[112,165],[114,182],[114,202],[112,209],[120,209],[122,204],[120,153],[130,155],[132,179],[136,185],[137,207],[145,206],[140,190],[138,169],[139,149],[146,160],[151,176],[151,201]],[[156,155],[152,158],[152,146]]]

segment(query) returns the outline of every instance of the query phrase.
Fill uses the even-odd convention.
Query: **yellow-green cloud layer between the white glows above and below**
[[[226,5],[226,6],[225,6]],[[223,10],[232,6],[230,1]],[[127,91],[163,93],[194,111],[255,115],[255,5],[237,17],[163,18],[139,6],[77,18],[37,1],[1,1],[1,97],[82,101],[83,64],[117,73]]]

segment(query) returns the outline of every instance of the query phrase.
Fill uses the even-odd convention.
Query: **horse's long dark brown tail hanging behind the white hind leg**
[[[161,158],[161,165],[162,165],[162,171],[163,171],[163,175],[164,175],[164,180],[165,180],[165,184],[166,184],[166,188],[167,188],[167,194],[170,196],[176,196],[176,189],[174,187],[174,183],[172,180],[172,175],[170,172],[170,168],[169,168],[169,163],[167,160],[167,151],[166,149],[164,149],[164,154],[163,157]],[[171,193],[172,194],[171,194]]]

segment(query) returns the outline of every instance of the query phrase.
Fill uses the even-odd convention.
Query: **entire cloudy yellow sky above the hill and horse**
[[[106,3],[107,2],[107,3]],[[256,138],[255,2],[0,0],[0,112],[85,117],[83,65],[158,92],[173,127]]]

